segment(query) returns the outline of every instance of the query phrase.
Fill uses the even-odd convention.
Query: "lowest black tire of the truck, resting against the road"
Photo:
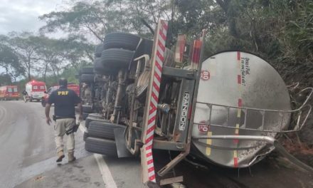
[[[96,137],[87,137],[85,141],[85,150],[92,153],[117,157],[115,141]]]

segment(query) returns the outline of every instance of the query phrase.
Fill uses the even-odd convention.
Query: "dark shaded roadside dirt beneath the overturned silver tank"
[[[169,154],[154,150],[154,160],[158,165],[155,167],[157,172],[169,162]],[[157,179],[179,176],[184,177],[182,184],[188,188],[313,187],[312,174],[297,168],[276,152],[252,167],[243,169],[220,167],[189,156],[187,160],[179,162],[166,176],[158,176]],[[163,186],[165,187],[171,186]]]

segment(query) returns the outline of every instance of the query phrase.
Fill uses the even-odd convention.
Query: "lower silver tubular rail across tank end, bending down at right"
[[[268,145],[272,145],[275,147],[277,152],[280,152],[281,155],[285,156],[290,162],[297,165],[298,167],[301,167],[302,169],[307,170],[307,172],[313,174],[313,168],[309,167],[307,164],[304,164],[303,162],[299,161],[296,157],[290,155],[287,150],[285,150],[282,145],[280,145],[277,140],[273,137],[267,137],[267,136],[249,136],[249,135],[213,135],[213,136],[196,136],[192,137],[193,140],[206,140],[206,139],[212,139],[212,140],[258,140],[262,142],[266,142]]]

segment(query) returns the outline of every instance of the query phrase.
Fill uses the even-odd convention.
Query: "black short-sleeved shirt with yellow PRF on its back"
[[[54,115],[58,117],[75,118],[75,105],[80,103],[80,98],[73,90],[60,87],[51,93],[48,103],[54,103]]]

